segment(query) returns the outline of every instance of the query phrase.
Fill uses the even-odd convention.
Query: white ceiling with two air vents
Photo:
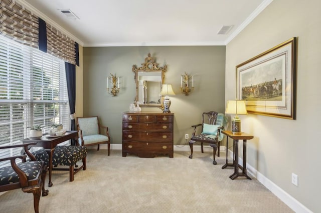
[[[17,1],[83,46],[151,46],[226,45],[272,0]],[[223,25],[233,27],[217,34]]]

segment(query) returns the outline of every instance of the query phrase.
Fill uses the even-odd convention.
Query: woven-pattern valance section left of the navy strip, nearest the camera
[[[14,0],[0,0],[0,34],[38,48],[38,17]]]

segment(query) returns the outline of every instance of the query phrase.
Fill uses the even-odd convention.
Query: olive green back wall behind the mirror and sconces
[[[122,112],[129,110],[136,94],[132,65],[141,66],[148,53],[159,66],[168,64],[165,82],[176,93],[170,108],[175,113],[174,144],[185,144],[185,133],[191,135],[191,125],[201,121],[203,111],[224,112],[225,46],[84,47],[83,115],[98,115],[109,127],[111,143],[121,144]],[[195,89],[188,96],[180,91],[185,71],[194,75]],[[117,96],[106,91],[109,73],[120,77]],[[150,106],[142,110],[162,111]]]

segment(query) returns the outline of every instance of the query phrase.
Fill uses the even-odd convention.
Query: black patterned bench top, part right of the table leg
[[[74,165],[76,162],[87,156],[87,147],[80,145],[58,145],[53,153],[54,166]]]

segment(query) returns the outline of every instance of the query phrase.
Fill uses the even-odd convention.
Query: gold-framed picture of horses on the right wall
[[[236,66],[236,94],[250,113],[295,119],[296,37]]]

